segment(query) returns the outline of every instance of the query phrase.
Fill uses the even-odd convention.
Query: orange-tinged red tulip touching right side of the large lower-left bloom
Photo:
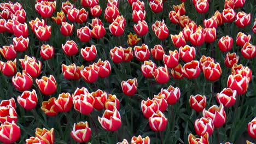
[[[92,105],[96,110],[102,110],[105,107],[105,103],[107,101],[108,94],[106,92],[101,91],[98,89],[96,92],[91,93],[92,97],[94,97],[94,101]]]

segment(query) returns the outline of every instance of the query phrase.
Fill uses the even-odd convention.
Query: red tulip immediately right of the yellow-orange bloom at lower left
[[[68,112],[73,106],[73,99],[70,93],[61,93],[57,100],[54,101],[57,111]]]

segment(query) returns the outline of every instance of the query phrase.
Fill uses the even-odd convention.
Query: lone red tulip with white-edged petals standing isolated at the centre
[[[129,79],[127,81],[122,81],[121,87],[124,94],[128,96],[134,95],[137,92],[137,87],[138,87],[137,79],[134,78],[134,79]]]

